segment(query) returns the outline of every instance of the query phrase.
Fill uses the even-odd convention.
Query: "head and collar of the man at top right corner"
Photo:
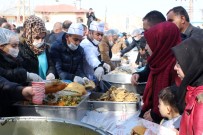
[[[200,29],[190,23],[189,15],[182,6],[170,9],[166,15],[167,21],[175,23],[185,38],[191,37],[194,33],[199,33]]]

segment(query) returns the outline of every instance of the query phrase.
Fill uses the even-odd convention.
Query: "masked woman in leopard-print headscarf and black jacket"
[[[49,46],[44,42],[46,36],[44,22],[32,15],[27,18],[23,27],[24,40],[19,45],[23,67],[28,72],[39,74],[42,79],[55,79],[55,67],[48,52]]]

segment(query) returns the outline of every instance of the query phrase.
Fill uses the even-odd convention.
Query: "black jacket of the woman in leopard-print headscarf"
[[[37,55],[34,54],[34,52],[30,49],[30,47],[25,42],[23,43],[21,42],[19,44],[19,56],[23,59],[22,65],[28,72],[39,74],[39,66],[38,66],[39,63],[38,63]],[[47,56],[47,62],[48,62],[47,75],[49,73],[53,73],[56,77],[57,76],[56,70],[52,62],[52,59],[50,57],[48,47],[46,49],[46,56]]]

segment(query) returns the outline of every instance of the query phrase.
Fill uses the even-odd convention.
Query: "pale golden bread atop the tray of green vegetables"
[[[69,83],[68,86],[64,89],[65,91],[72,92],[73,95],[82,96],[87,93],[85,87],[77,82]]]

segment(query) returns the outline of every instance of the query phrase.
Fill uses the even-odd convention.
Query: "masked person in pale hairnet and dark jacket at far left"
[[[28,73],[22,67],[22,59],[18,57],[18,35],[8,29],[0,28],[0,39],[0,76],[25,85],[29,81],[42,81],[37,74]]]

